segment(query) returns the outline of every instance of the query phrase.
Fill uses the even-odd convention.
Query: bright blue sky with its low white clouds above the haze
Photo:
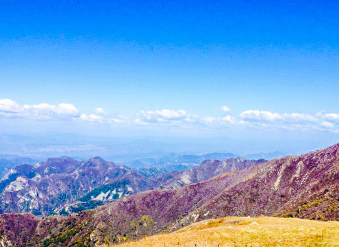
[[[321,148],[338,47],[339,1],[0,0],[0,134]]]

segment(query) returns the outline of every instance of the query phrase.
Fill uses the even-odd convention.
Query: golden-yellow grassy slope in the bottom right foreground
[[[224,217],[204,220],[168,234],[119,247],[339,246],[339,222],[281,217]]]

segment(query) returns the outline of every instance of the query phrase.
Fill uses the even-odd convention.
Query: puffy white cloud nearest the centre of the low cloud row
[[[138,113],[138,118],[136,123],[147,122],[147,123],[157,123],[157,122],[171,122],[171,121],[181,121],[188,117],[185,110],[155,110],[155,111],[140,111]]]

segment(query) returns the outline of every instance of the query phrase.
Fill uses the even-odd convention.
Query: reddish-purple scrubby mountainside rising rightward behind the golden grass
[[[101,163],[103,161],[86,161],[81,167],[92,167],[88,168],[88,172],[96,173]],[[223,166],[222,162],[218,164],[217,167]],[[25,169],[25,174],[26,178],[33,176],[29,169]],[[103,174],[100,176],[105,180]],[[23,175],[17,176],[16,181],[23,178]],[[95,178],[101,179],[99,176]],[[339,211],[336,210],[339,207],[338,179],[339,144],[301,156],[286,156],[226,172],[177,189],[155,189],[124,196],[103,207],[68,217],[3,214],[0,215],[0,244],[116,244],[123,239],[172,232],[193,222],[227,215],[339,220]],[[76,178],[72,177],[72,180]],[[45,187],[48,188],[47,185]]]

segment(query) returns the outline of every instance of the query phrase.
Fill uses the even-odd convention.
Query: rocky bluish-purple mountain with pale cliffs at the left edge
[[[110,188],[102,191],[95,188]],[[114,187],[114,188],[113,188]],[[11,169],[0,181],[0,212],[50,215],[60,212],[64,204],[88,202],[86,207],[102,204],[99,201],[115,200],[129,193],[149,189],[149,179],[128,167],[118,167],[102,158],[86,162],[72,158],[49,158],[36,165],[19,165]],[[89,198],[86,194],[92,192]],[[85,196],[85,197],[84,197]],[[88,200],[86,200],[88,198]],[[84,205],[82,205],[84,207]]]

